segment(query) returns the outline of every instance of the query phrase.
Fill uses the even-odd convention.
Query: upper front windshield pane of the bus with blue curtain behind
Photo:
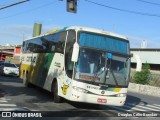
[[[79,44],[83,47],[129,54],[129,42],[127,40],[107,35],[80,32]]]

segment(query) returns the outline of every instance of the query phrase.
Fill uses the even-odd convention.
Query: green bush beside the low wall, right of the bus
[[[141,72],[136,72],[134,75],[134,81],[135,83],[138,84],[149,84],[149,79],[150,79],[150,66],[149,64],[145,63],[142,67],[142,71]]]

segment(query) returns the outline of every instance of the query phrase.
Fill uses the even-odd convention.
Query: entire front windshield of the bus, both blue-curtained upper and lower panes
[[[110,86],[127,86],[129,43],[104,35],[80,32],[75,79]]]

